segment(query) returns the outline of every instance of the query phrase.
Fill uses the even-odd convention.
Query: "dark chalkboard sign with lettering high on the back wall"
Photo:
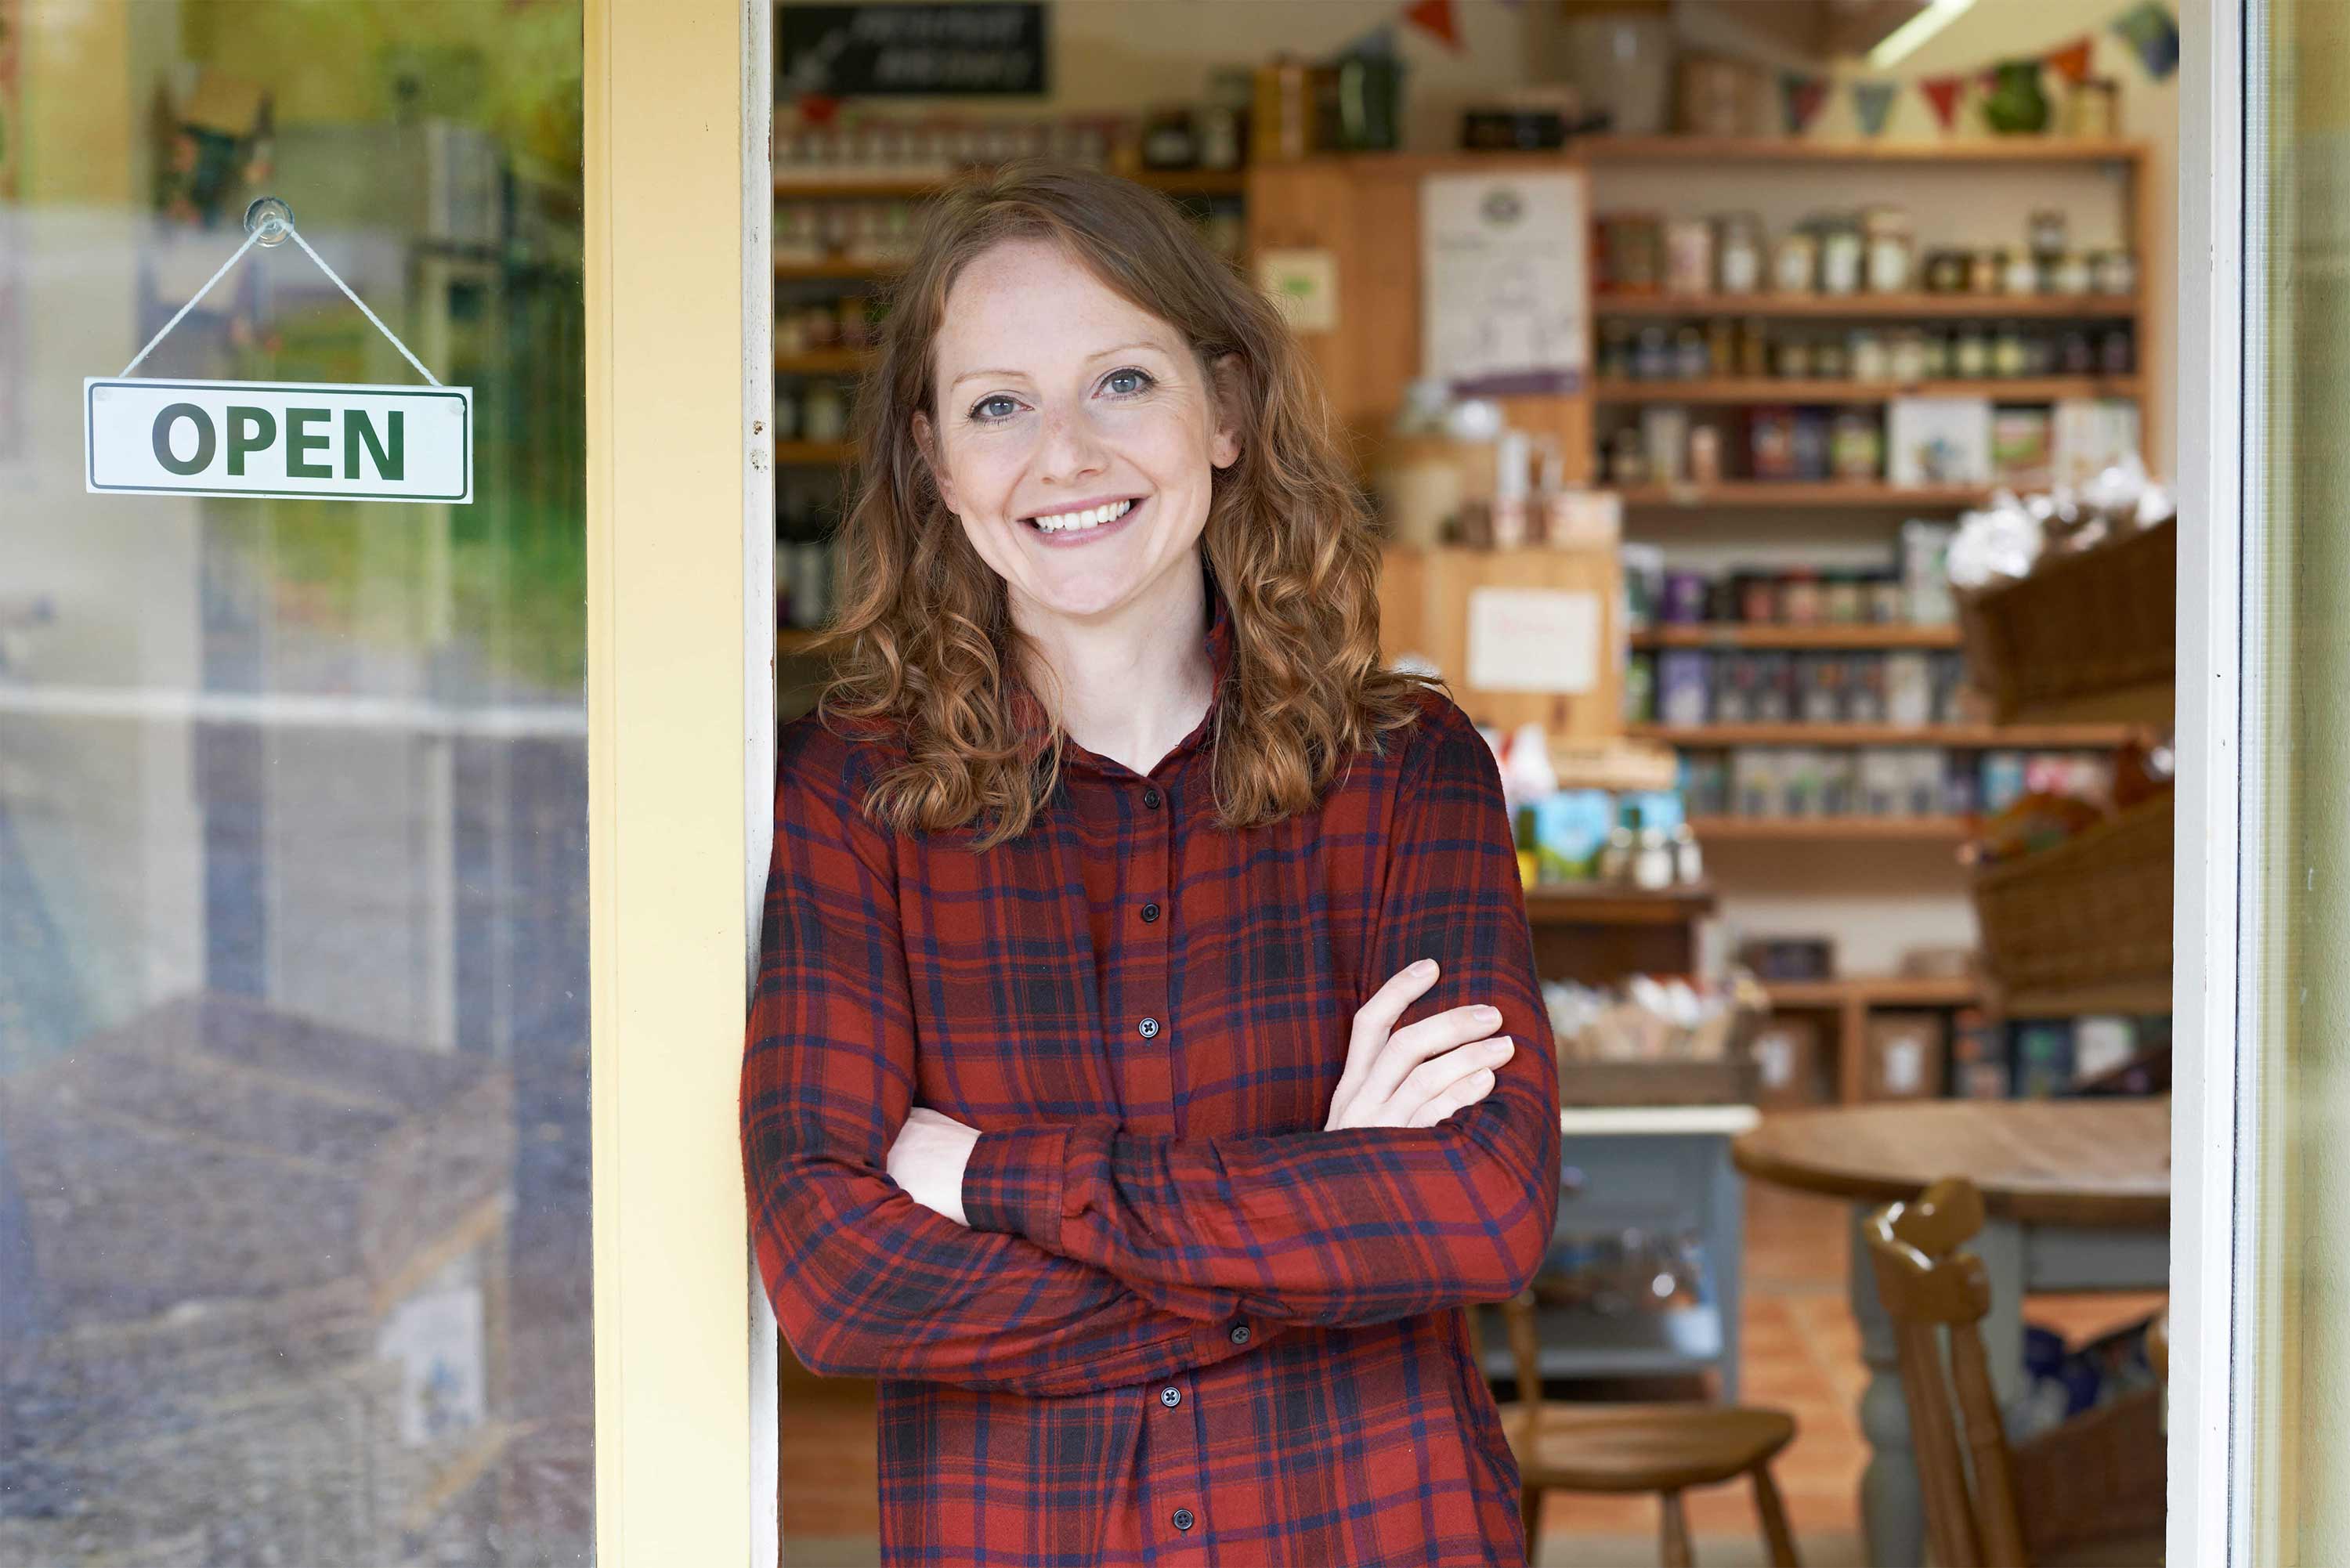
[[[1043,96],[1043,5],[783,5],[778,96]]]

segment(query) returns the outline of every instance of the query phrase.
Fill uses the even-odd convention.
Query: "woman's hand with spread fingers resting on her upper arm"
[[[1422,959],[1375,990],[1356,1011],[1347,1072],[1330,1095],[1330,1121],[1323,1131],[1436,1126],[1492,1093],[1492,1070],[1516,1051],[1509,1034],[1495,1034],[1502,1023],[1495,1009],[1457,1006],[1396,1030],[1403,1009],[1431,985],[1436,985],[1436,959]]]

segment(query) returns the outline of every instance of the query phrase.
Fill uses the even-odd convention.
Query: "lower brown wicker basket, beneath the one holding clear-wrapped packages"
[[[2171,971],[2171,795],[1974,877],[1983,971],[2007,992]]]

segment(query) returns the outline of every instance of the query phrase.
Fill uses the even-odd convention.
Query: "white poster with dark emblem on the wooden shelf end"
[[[1574,393],[1589,364],[1584,176],[1419,183],[1422,369],[1455,395]]]

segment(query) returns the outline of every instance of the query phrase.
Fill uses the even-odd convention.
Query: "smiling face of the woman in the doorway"
[[[1194,562],[1210,468],[1241,449],[1175,327],[1058,244],[1006,240],[947,292],[931,369],[938,423],[914,414],[914,437],[1015,607],[1090,618],[1189,583],[1170,574]]]

